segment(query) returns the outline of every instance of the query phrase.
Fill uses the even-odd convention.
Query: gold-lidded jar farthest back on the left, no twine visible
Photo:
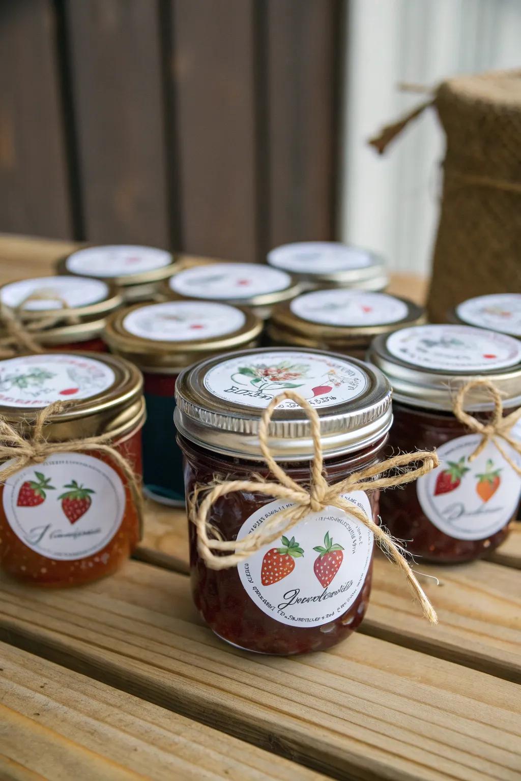
[[[107,244],[84,247],[59,260],[57,273],[90,276],[116,287],[123,301],[147,301],[177,269],[177,258],[155,247]]]

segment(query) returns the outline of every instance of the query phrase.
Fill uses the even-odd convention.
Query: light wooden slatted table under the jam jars
[[[50,273],[69,248],[0,240],[2,276]],[[421,566],[432,627],[377,558],[350,640],[248,654],[194,611],[184,512],[150,501],[116,576],[0,582],[0,778],[519,779],[520,567],[517,527],[489,561]]]

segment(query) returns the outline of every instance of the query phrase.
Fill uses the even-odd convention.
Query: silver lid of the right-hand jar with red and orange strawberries
[[[505,407],[521,403],[521,343],[496,331],[459,325],[413,326],[376,337],[369,361],[393,387],[395,401],[450,411],[459,387],[485,377],[504,394]],[[476,389],[466,408],[488,410],[490,397]]]

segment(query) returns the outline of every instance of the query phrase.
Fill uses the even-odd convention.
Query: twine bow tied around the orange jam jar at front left
[[[144,503],[141,494],[141,480],[132,469],[127,458],[120,454],[112,446],[112,437],[109,433],[99,434],[97,437],[85,437],[85,439],[67,440],[66,442],[48,442],[44,436],[45,424],[49,422],[52,415],[57,415],[73,402],[53,401],[38,412],[31,431],[30,439],[24,439],[14,426],[0,415],[0,462],[12,459],[9,465],[0,466],[0,483],[5,483],[9,477],[20,472],[30,464],[41,464],[50,455],[55,453],[71,452],[92,452],[98,451],[109,456],[110,460],[119,466],[121,472],[127,480],[130,493],[134,501],[139,522],[140,537],[142,537]]]

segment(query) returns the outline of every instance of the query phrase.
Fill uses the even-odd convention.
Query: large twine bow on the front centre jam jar
[[[277,464],[269,451],[268,429],[269,422],[273,415],[273,410],[281,401],[289,399],[298,404],[305,411],[311,423],[311,433],[313,440],[313,458],[311,463],[311,483],[309,491],[305,487],[298,485],[292,478],[284,472],[284,469]],[[273,540],[277,540],[282,534],[287,532],[296,523],[309,515],[310,512],[319,512],[332,505],[349,515],[352,515],[367,526],[376,537],[376,541],[384,550],[384,553],[391,558],[401,569],[407,578],[413,593],[419,599],[422,606],[423,615],[432,623],[437,623],[437,615],[430,604],[429,599],[419,585],[411,567],[405,561],[403,548],[393,540],[390,534],[380,528],[372,518],[368,518],[366,513],[359,507],[351,504],[344,499],[342,494],[348,494],[355,490],[379,490],[394,486],[411,483],[418,477],[426,475],[431,469],[438,465],[436,453],[431,451],[418,451],[416,453],[405,453],[402,455],[388,458],[387,461],[369,466],[359,472],[352,473],[345,480],[341,480],[334,485],[328,485],[323,476],[323,452],[320,440],[320,421],[316,410],[312,408],[309,401],[302,398],[294,391],[284,391],[270,402],[262,414],[259,425],[259,445],[262,456],[266,462],[269,472],[278,482],[267,482],[258,477],[257,480],[230,480],[223,483],[214,483],[208,486],[209,491],[204,499],[198,504],[198,494],[202,487],[197,487],[194,495],[191,497],[188,505],[190,508],[191,521],[198,533],[198,551],[209,569],[228,569],[243,562],[244,559],[251,556],[261,547],[267,545]],[[384,477],[384,474],[391,469],[419,464],[416,469],[401,473],[394,473],[393,476]],[[209,513],[212,505],[220,497],[232,494],[235,491],[247,491],[250,493],[264,494],[265,496],[276,499],[291,501],[291,507],[280,510],[266,519],[258,530],[250,532],[242,540],[222,540],[216,539],[215,531],[209,522]],[[217,554],[213,551],[217,551]],[[228,555],[219,555],[221,551],[232,551]]]

